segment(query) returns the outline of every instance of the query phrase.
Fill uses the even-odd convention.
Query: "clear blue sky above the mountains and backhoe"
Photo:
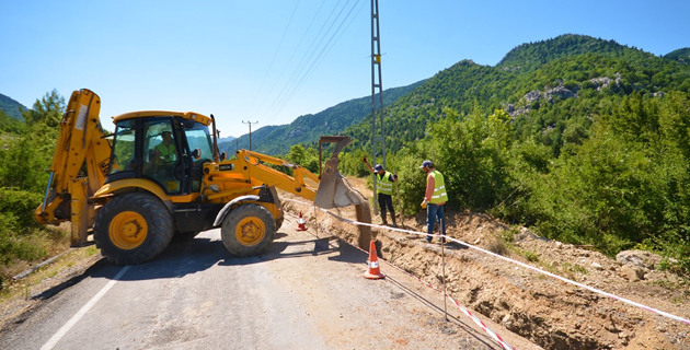
[[[221,137],[371,94],[371,0],[0,0],[0,93],[31,107],[90,89],[101,117],[214,114]],[[584,34],[665,55],[690,46],[690,1],[379,0],[383,89],[462,59]]]

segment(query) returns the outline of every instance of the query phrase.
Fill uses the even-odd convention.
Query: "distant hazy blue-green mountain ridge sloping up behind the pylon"
[[[419,81],[407,86],[384,90],[383,106],[389,106],[423,83],[424,81]],[[251,149],[266,154],[286,154],[294,144],[317,142],[321,136],[341,135],[347,127],[370,115],[371,96],[350,100],[317,114],[300,116],[289,125],[258,128],[252,131]],[[218,148],[221,152],[232,154],[237,147],[249,149],[249,135],[243,135],[237,142],[222,142]]]

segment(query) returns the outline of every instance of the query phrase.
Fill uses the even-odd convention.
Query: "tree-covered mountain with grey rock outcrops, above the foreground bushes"
[[[424,138],[428,124],[445,117],[445,107],[463,115],[476,106],[506,110],[517,137],[545,138],[557,153],[568,124],[586,128],[598,108],[621,96],[689,92],[687,54],[681,49],[657,57],[614,40],[567,34],[522,44],[494,67],[462,60],[384,109],[387,145],[395,152]],[[366,121],[345,133],[369,149]]]

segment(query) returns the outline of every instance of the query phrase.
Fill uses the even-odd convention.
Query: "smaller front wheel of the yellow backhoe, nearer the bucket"
[[[239,257],[260,255],[276,235],[276,220],[260,205],[240,206],[222,221],[220,236],[228,252]]]

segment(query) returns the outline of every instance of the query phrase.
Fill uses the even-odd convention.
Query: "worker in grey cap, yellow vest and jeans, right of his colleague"
[[[424,192],[424,201],[422,208],[426,208],[426,242],[432,242],[434,235],[434,225],[436,219],[440,223],[441,242],[446,242],[446,218],[444,206],[448,201],[446,192],[446,182],[444,175],[434,168],[432,161],[424,161],[419,166],[426,173],[426,191]]]

